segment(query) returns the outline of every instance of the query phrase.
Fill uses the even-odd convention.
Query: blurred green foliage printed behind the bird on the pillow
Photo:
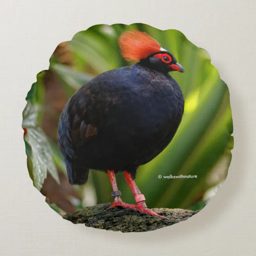
[[[87,184],[75,186],[75,192],[68,187],[66,167],[56,144],[57,124],[68,98],[86,81],[107,70],[133,64],[120,56],[117,44],[121,33],[132,29],[149,33],[169,48],[185,69],[184,74],[171,73],[185,98],[180,127],[171,144],[137,172],[136,184],[145,195],[147,206],[202,209],[227,176],[233,148],[229,91],[210,64],[208,52],[176,30],[161,31],[140,23],[95,25],[56,48],[49,70],[41,72],[32,85],[23,111],[29,174],[57,212],[112,201],[111,184],[103,172],[90,171]],[[159,179],[158,175],[197,178]],[[48,177],[51,186],[45,185]],[[122,199],[135,203],[123,174],[118,173],[116,179]],[[58,193],[52,187],[59,188],[61,199],[54,197],[53,193]]]

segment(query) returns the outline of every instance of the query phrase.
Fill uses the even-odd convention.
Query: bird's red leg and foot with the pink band
[[[124,171],[124,177],[126,179],[126,182],[129,185],[129,187],[130,187],[130,190],[132,190],[132,194],[134,195],[135,201],[137,203],[137,208],[140,211],[146,212],[149,215],[160,217],[161,219],[167,219],[166,217],[158,215],[157,212],[152,211],[151,209],[147,208],[146,203],[145,203],[145,197],[140,192],[139,188],[137,187],[137,185],[135,184],[134,180],[132,179],[130,173],[128,173],[127,171]]]

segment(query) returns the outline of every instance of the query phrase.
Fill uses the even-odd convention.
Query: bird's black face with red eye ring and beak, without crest
[[[156,52],[145,59],[140,60],[141,65],[162,73],[169,71],[184,72],[184,68],[178,64],[175,56],[170,52]]]

